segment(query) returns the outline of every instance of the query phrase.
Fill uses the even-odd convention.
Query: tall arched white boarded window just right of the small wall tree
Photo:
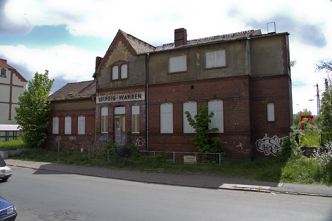
[[[208,124],[208,128],[218,128],[218,133],[224,132],[224,112],[223,102],[221,100],[212,100],[207,102],[208,113],[213,112],[213,116],[210,118],[211,123]]]

